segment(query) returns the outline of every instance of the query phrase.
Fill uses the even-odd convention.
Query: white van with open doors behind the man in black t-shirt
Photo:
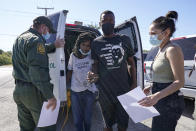
[[[67,24],[66,16],[68,11],[60,11],[58,13],[49,15],[49,19],[52,20],[54,28],[57,30],[57,34],[52,35],[47,43],[54,42],[57,37],[66,38],[65,49],[56,49],[54,53],[48,54],[49,56],[49,69],[51,82],[54,84],[54,94],[60,101],[66,101],[66,61],[68,61],[69,54],[75,44],[77,36],[82,32],[90,32],[96,37],[101,33],[93,28]],[[143,56],[142,56],[142,43],[139,33],[136,17],[122,22],[122,24],[115,27],[115,32],[119,34],[125,34],[130,37],[132,47],[135,51],[135,61],[137,66],[137,85],[143,88]],[[67,56],[68,55],[68,56]]]

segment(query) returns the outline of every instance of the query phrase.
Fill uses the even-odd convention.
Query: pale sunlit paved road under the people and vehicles
[[[17,108],[12,98],[14,89],[14,80],[11,76],[12,67],[3,66],[0,67],[0,131],[19,131],[17,120]],[[194,120],[192,117],[194,111],[194,102],[185,100],[186,110],[183,116],[180,118],[176,131],[193,131]],[[62,111],[62,109],[61,109]],[[58,131],[62,126],[65,114],[60,111],[58,118]],[[101,117],[101,111],[98,104],[94,107],[92,131],[102,131],[103,119]],[[70,115],[66,126],[63,131],[74,131],[73,119]],[[150,131],[151,119],[145,120],[142,123],[134,124],[129,121],[128,131]],[[116,127],[114,127],[116,131]]]

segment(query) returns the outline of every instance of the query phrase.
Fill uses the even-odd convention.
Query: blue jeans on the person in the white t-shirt
[[[77,131],[90,131],[94,94],[85,90],[82,92],[71,92],[72,114]]]

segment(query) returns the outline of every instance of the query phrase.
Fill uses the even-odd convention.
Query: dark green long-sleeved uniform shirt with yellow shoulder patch
[[[32,83],[46,99],[50,99],[54,95],[46,52],[54,51],[55,46],[51,44],[46,47],[45,42],[41,34],[32,28],[16,39],[12,56],[13,77]]]

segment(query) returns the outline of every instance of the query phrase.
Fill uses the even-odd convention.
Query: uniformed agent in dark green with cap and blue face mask
[[[21,131],[34,131],[44,101],[48,101],[47,108],[56,108],[47,53],[63,47],[65,42],[57,39],[54,44],[45,45],[50,33],[56,33],[52,22],[45,16],[39,16],[33,20],[33,27],[21,34],[13,45],[13,77],[16,84],[13,97]],[[38,130],[55,131],[56,125]]]

